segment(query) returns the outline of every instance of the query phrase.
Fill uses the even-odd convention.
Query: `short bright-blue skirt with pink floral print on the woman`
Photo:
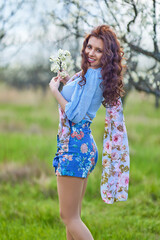
[[[86,178],[95,168],[98,149],[91,133],[91,122],[83,119],[79,123],[70,123],[68,151],[64,151],[64,141],[57,135],[57,152],[53,159],[55,174]]]

